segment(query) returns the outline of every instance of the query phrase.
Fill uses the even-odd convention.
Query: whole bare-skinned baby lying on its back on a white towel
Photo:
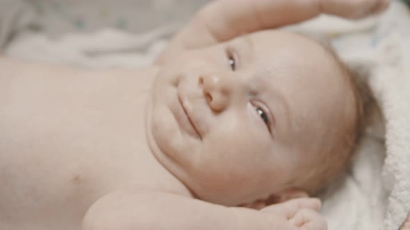
[[[349,161],[361,99],[318,42],[252,32],[384,8],[354,2],[215,1],[146,69],[0,59],[0,229],[326,229],[306,197]]]

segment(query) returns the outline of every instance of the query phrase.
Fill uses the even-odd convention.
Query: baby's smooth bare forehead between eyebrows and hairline
[[[241,61],[247,62],[245,69],[268,80],[266,83],[303,88],[302,94],[309,94],[309,87],[332,92],[332,88],[336,91],[346,85],[341,62],[317,39],[285,30],[263,30],[236,40],[246,47],[240,48],[246,52],[239,58],[239,66]],[[243,51],[238,53],[243,55]]]

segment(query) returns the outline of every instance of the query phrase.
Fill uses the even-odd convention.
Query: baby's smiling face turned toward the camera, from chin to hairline
[[[311,39],[245,35],[163,66],[148,105],[149,144],[200,199],[252,202],[320,167],[354,113],[348,91],[333,57]]]

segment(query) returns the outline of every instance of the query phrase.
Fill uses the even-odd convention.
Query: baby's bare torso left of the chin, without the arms
[[[0,229],[79,229],[110,191],[183,189],[145,141],[152,73],[0,76]]]

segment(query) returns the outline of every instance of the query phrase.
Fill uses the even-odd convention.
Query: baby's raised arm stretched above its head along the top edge
[[[366,17],[386,8],[388,3],[389,0],[215,0],[172,39],[157,62],[161,64],[183,49],[295,24],[322,13],[351,19]]]

